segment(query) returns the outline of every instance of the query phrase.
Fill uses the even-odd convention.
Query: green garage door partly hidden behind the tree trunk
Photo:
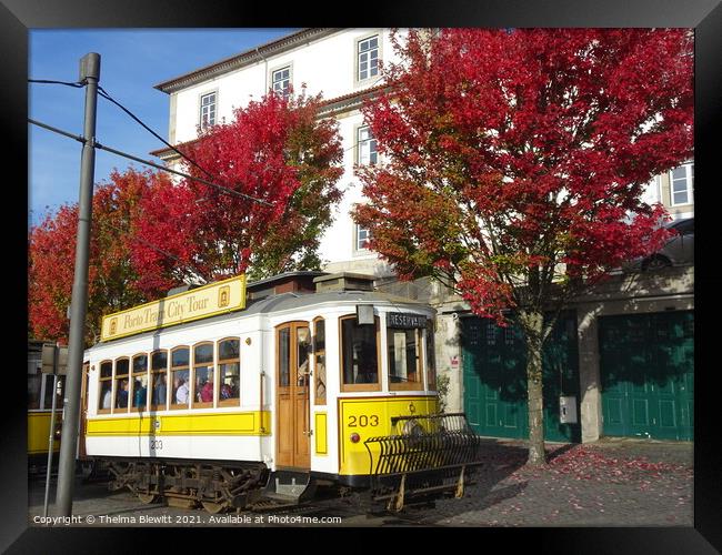
[[[529,437],[525,344],[515,326],[499,327],[492,320],[464,317],[462,329],[464,412],[480,435]],[[580,442],[579,424],[561,424],[560,395],[576,397],[579,421],[579,352],[576,320],[560,319],[544,347],[544,437]]]

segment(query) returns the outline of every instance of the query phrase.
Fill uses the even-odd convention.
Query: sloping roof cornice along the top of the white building
[[[154,85],[154,89],[162,91],[167,94],[180,91],[187,87],[191,87],[209,79],[235,71],[251,63],[263,61],[268,56],[275,56],[288,50],[292,50],[299,46],[305,46],[312,40],[318,40],[328,37],[334,32],[342,30],[342,28],[309,28],[297,31],[280,39],[275,39],[260,47],[245,50],[240,54],[225,58],[224,60],[211,63],[190,73],[179,75],[162,83]]]

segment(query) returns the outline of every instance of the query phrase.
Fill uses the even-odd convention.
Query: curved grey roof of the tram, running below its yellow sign
[[[109,341],[99,341],[93,346],[86,350],[92,351],[96,347],[117,344],[122,342],[122,340],[138,340],[142,337],[150,337],[162,333],[163,331],[171,330],[182,330],[188,326],[200,325],[200,324],[210,324],[223,322],[227,320],[234,320],[239,317],[248,317],[260,314],[270,314],[272,312],[290,311],[290,310],[301,310],[317,304],[325,304],[333,302],[342,302],[344,304],[362,302],[362,303],[372,303],[381,304],[387,306],[399,306],[405,305],[407,307],[425,307],[432,309],[429,304],[421,301],[414,301],[413,299],[408,299],[405,296],[391,295],[387,293],[379,293],[375,291],[328,291],[322,293],[300,293],[300,292],[288,292],[280,293],[278,295],[271,295],[259,300],[250,300],[245,309],[234,312],[229,312],[227,314],[218,314],[215,316],[209,316],[202,320],[195,320],[192,322],[180,323],[163,327],[160,330],[151,330],[148,332],[142,332],[137,335],[127,335],[124,337],[119,337],[117,340]],[[432,309],[433,310],[433,309]]]

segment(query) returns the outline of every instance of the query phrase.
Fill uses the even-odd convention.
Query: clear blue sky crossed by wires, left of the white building
[[[78,81],[80,59],[100,54],[100,85],[168,140],[169,97],[153,89],[168,79],[240,53],[295,29],[39,29],[29,32],[30,79]],[[28,83],[28,115],[81,135],[86,89]],[[120,108],[98,98],[96,137],[101,144],[150,159],[163,147]],[[78,202],[81,143],[28,125],[28,224],[37,225],[62,204]],[[128,159],[96,151],[96,183]]]

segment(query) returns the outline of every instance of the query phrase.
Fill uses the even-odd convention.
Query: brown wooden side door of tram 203
[[[309,468],[310,401],[308,322],[290,322],[275,331],[277,465]]]

